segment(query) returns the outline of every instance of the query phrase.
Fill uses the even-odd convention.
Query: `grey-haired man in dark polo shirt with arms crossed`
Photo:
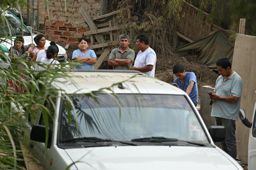
[[[127,34],[119,36],[119,47],[111,51],[108,58],[108,65],[113,66],[113,69],[128,70],[134,61],[135,52],[130,49],[130,37]]]

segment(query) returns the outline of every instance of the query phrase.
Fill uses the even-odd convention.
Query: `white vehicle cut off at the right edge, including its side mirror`
[[[256,103],[253,109],[252,122],[246,118],[244,109],[240,109],[239,117],[242,123],[250,128],[248,141],[248,170],[254,170],[256,167]]]

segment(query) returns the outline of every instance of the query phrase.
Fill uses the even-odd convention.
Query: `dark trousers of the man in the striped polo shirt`
[[[217,126],[225,127],[225,141],[221,142],[222,150],[236,160],[236,121],[215,117]]]

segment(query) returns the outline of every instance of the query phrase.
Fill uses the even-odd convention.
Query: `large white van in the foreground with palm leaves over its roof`
[[[43,113],[23,117],[22,144],[43,169],[242,170],[214,145],[224,139],[224,127],[208,132],[181,89],[138,71],[70,75],[52,84],[62,89],[54,105],[44,102],[52,113],[49,142]]]

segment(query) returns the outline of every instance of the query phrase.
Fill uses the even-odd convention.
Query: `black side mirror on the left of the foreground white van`
[[[31,133],[30,133],[30,139],[37,141],[37,142],[43,142],[46,141],[46,128],[44,125],[33,125]],[[48,146],[50,146],[50,142],[52,140],[52,131],[49,129],[48,131],[49,137],[48,137]]]

